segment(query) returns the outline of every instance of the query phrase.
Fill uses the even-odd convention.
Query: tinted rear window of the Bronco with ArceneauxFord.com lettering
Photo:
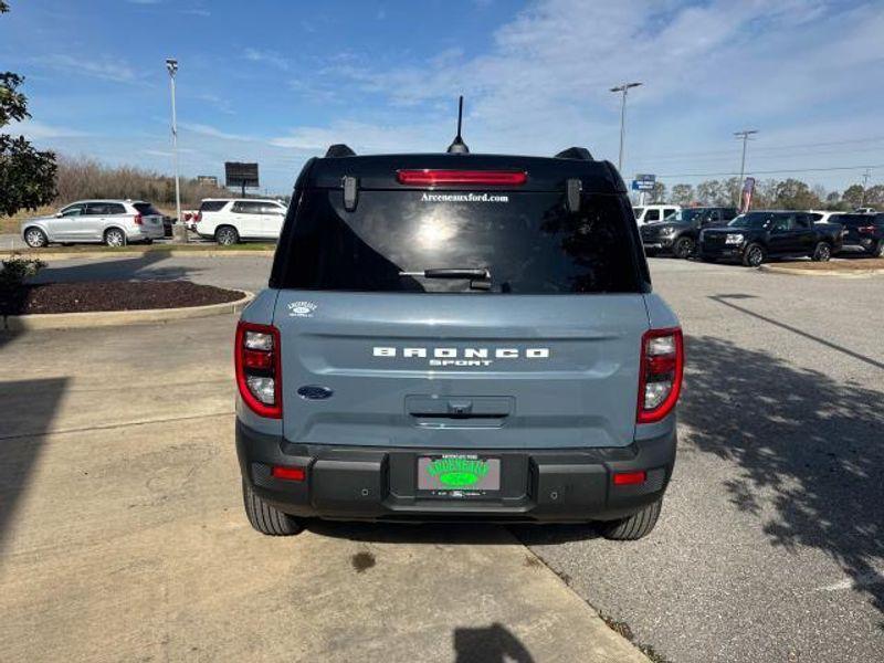
[[[571,213],[560,192],[361,191],[356,211],[346,212],[339,190],[313,189],[286,233],[276,285],[385,293],[641,292],[631,225],[629,207],[615,196],[586,196],[581,210]],[[491,278],[423,275],[438,269],[487,270]]]

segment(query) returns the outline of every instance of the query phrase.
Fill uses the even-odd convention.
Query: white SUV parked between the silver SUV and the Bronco
[[[278,240],[285,213],[272,199],[207,198],[197,213],[196,231],[201,238],[231,245],[242,240]]]

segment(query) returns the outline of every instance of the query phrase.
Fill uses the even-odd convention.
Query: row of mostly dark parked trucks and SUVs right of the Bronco
[[[636,208],[635,214],[648,255],[671,253],[747,266],[758,266],[769,257],[828,261],[846,246],[884,256],[882,212],[758,210],[738,214],[735,208],[706,207],[672,209],[650,222],[648,212],[649,208]]]

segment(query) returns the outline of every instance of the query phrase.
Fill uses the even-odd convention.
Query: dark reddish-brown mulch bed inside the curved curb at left
[[[0,315],[140,311],[223,304],[243,294],[189,281],[92,281],[0,290]]]

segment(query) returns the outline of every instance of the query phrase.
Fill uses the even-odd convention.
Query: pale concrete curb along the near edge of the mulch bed
[[[73,329],[85,327],[113,327],[118,325],[144,325],[167,323],[188,318],[209,317],[239,313],[255,298],[254,293],[243,293],[241,299],[206,306],[186,308],[145,308],[141,311],[97,311],[90,313],[36,313],[33,315],[8,315],[2,319],[0,332],[30,332],[34,329]]]

